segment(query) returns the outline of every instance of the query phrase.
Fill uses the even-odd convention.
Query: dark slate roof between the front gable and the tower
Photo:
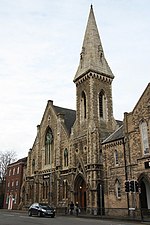
[[[69,132],[69,134],[71,133],[71,128],[75,122],[76,119],[76,110],[72,110],[72,109],[66,109],[66,108],[62,108],[59,106],[54,106],[54,109],[57,113],[63,114],[64,115],[64,123],[66,125],[66,128]]]

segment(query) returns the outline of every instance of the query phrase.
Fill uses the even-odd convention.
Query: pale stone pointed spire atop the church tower
[[[93,6],[91,5],[87,27],[85,31],[80,63],[74,82],[86,72],[93,71],[114,78],[114,75],[105,59],[102,43],[95,21]]]

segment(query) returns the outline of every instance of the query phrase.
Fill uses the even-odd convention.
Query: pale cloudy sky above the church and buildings
[[[0,0],[0,151],[28,155],[48,100],[76,109],[91,4],[115,76],[115,119],[138,102],[150,78],[149,0]]]

